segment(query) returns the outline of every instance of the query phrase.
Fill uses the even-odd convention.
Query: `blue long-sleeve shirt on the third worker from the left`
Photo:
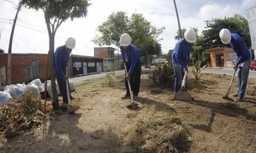
[[[180,64],[182,69],[186,68],[186,64],[191,60],[190,54],[193,43],[186,43],[185,38],[180,38],[176,43],[172,53],[172,63]]]

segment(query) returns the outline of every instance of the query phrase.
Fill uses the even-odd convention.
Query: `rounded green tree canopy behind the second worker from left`
[[[155,28],[142,14],[133,13],[130,18],[124,12],[112,13],[107,21],[97,27],[97,36],[92,40],[98,45],[119,45],[119,38],[128,33],[132,43],[138,47],[141,56],[161,53],[159,34],[163,28]],[[158,39],[159,38],[159,39]]]

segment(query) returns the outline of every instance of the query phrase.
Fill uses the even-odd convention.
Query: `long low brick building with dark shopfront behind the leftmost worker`
[[[11,84],[28,83],[33,79],[47,79],[46,67],[48,54],[12,54]],[[71,55],[68,66],[69,76],[100,73],[103,70],[103,59]],[[0,54],[0,86],[8,85],[8,54]]]

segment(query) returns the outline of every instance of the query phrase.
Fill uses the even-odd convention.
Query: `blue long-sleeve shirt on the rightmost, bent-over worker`
[[[246,43],[243,41],[243,38],[238,35],[238,33],[231,33],[230,46],[238,56],[236,66],[251,58],[251,53]]]

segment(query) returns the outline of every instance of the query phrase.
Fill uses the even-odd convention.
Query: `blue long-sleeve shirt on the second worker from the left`
[[[141,62],[138,48],[133,44],[130,44],[127,50],[124,49],[123,46],[120,46],[119,48],[121,49],[122,58],[125,59],[128,64],[131,64],[131,67],[128,70],[128,74],[131,75],[133,74],[136,64]]]

